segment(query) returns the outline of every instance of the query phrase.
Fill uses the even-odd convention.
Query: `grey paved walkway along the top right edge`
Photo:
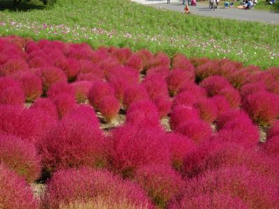
[[[133,0],[138,3],[150,4],[156,8],[165,8],[175,11],[183,11],[184,6],[181,5],[181,0],[170,0],[172,3],[167,3],[167,0]],[[187,1],[188,2],[188,1]],[[265,22],[271,24],[279,24],[279,13],[271,13],[268,11],[259,10],[241,10],[238,8],[227,8],[219,6],[215,11],[209,9],[207,1],[197,2],[197,6],[190,6],[190,12],[195,15],[229,18],[234,20]]]

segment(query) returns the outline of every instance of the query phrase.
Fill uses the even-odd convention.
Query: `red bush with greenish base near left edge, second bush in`
[[[22,90],[24,91],[25,100],[27,102],[33,102],[36,98],[39,98],[43,93],[43,85],[40,78],[33,75],[31,72],[24,72],[15,75],[20,83]]]

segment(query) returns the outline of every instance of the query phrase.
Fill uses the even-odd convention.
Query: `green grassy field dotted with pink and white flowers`
[[[262,68],[279,65],[278,25],[186,16],[128,0],[57,0],[47,7],[33,0],[20,8],[0,0],[0,5],[2,36],[88,42],[93,47],[148,48],[190,57],[226,57]]]

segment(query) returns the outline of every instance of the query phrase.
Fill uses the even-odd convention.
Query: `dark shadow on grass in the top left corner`
[[[29,10],[42,10],[50,5],[43,5],[40,1],[24,1],[20,3],[13,3],[13,0],[0,0],[0,11],[10,10],[10,11],[29,11]]]

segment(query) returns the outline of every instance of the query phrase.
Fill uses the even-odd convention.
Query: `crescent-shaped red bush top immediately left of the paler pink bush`
[[[55,100],[59,93],[69,95],[71,98],[75,98],[75,88],[67,82],[57,82],[53,84],[47,91],[47,97],[51,100]]]

